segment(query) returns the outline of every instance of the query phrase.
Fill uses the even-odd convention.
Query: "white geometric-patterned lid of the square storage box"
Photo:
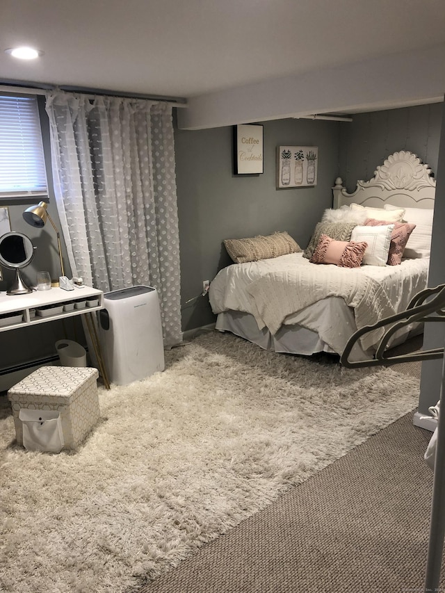
[[[41,366],[8,390],[14,395],[57,396],[70,399],[88,380],[99,376],[97,368]]]

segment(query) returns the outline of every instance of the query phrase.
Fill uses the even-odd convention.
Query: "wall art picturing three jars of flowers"
[[[316,186],[318,146],[277,147],[277,188]]]

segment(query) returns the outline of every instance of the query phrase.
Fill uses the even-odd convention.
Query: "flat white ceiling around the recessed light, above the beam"
[[[21,44],[44,54],[26,62],[4,52]],[[442,44],[443,0],[0,3],[8,83],[191,99]]]

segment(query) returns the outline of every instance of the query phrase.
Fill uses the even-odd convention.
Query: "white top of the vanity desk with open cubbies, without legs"
[[[30,309],[47,307],[51,304],[64,304],[65,302],[86,300],[91,297],[99,299],[97,307],[84,307],[83,309],[74,309],[73,311],[62,311],[61,313],[46,316],[32,317],[29,314]],[[97,289],[84,286],[82,289],[74,288],[74,291],[64,291],[60,288],[51,288],[48,291],[33,291],[24,295],[7,295],[6,292],[0,292],[0,316],[11,314],[12,318],[22,316],[19,323],[7,323],[0,325],[0,332],[8,330],[17,330],[19,327],[30,327],[39,323],[47,323],[56,319],[65,319],[76,315],[85,315],[93,311],[99,311],[104,308],[104,293]]]

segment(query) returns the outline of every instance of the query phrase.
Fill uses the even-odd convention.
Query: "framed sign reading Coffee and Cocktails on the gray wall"
[[[234,174],[257,175],[263,168],[263,127],[260,124],[234,126]]]

